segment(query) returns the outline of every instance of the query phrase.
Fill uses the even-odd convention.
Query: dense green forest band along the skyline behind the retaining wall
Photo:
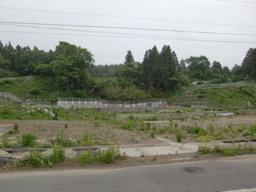
[[[191,82],[203,84],[256,80],[256,48],[250,48],[240,65],[230,70],[204,56],[178,60],[169,45],[161,51],[154,46],[145,51],[142,62],[128,50],[124,62],[94,65],[93,53],[86,48],[59,41],[55,50],[37,47],[15,48],[0,41],[0,78],[33,76],[48,84],[49,92],[65,97],[97,97],[108,100],[163,98],[184,89]],[[2,85],[8,81],[0,81]],[[45,92],[36,85],[31,94]],[[1,91],[1,90],[0,90]]]

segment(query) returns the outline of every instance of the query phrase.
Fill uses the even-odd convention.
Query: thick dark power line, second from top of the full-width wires
[[[202,32],[202,31],[182,31],[182,30],[146,29],[146,28],[129,28],[129,27],[83,26],[83,25],[62,25],[62,24],[37,24],[37,23],[1,22],[1,21],[0,21],[0,23],[3,23],[3,24],[49,25],[49,26],[66,26],[66,27],[90,27],[90,28],[132,29],[132,30],[147,30],[147,31],[169,31],[169,32],[186,32],[186,33],[202,33],[202,34],[256,36],[256,34],[216,33],[216,32]],[[35,27],[35,28],[41,28],[41,27]],[[48,28],[48,29],[55,29],[55,28]]]

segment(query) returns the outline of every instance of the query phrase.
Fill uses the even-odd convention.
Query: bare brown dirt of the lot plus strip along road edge
[[[84,130],[89,130],[89,133],[93,136],[95,141],[112,141],[116,145],[133,145],[133,144],[150,144],[150,145],[164,145],[165,141],[151,138],[150,135],[144,132],[131,132],[126,130],[118,130],[113,127],[99,126],[96,127],[94,122],[88,121],[54,121],[54,120],[1,120],[0,129],[6,129],[6,125],[13,125],[14,122],[19,124],[19,132],[17,135],[23,135],[25,133],[35,134],[39,138],[52,138],[56,137],[60,130],[64,133],[68,133],[70,138],[81,138]],[[158,127],[169,126],[169,121],[152,121],[152,124],[156,124]],[[228,117],[212,117],[206,119],[197,119],[187,121],[174,121],[173,123],[178,123],[178,125],[185,126],[202,126],[205,129],[209,127],[210,124],[215,127],[216,131],[221,131],[225,139],[242,139],[241,134],[234,137],[229,132],[224,132],[223,127],[228,127],[228,124],[232,125],[232,129],[237,129],[240,124],[245,124],[249,126],[250,124],[256,123],[256,115],[251,116],[233,116]],[[65,128],[67,124],[67,129]],[[10,127],[11,129],[11,127]],[[157,138],[165,138],[170,141],[176,141],[175,134],[166,132],[165,134],[156,134]],[[166,138],[167,137],[167,138]],[[194,137],[187,136],[182,139],[182,143],[186,142],[197,142]],[[200,144],[200,143],[199,143]],[[176,155],[165,155],[157,156],[157,160],[153,160],[154,157],[137,157],[129,158],[114,164],[92,164],[89,166],[78,165],[75,161],[69,162],[66,165],[58,165],[54,167],[40,168],[40,170],[54,170],[54,169],[67,169],[67,168],[120,168],[120,167],[130,167],[130,166],[140,166],[140,165],[154,165],[154,164],[169,164],[184,161],[199,161],[221,158],[218,155],[208,154],[208,155],[198,155],[197,153],[191,154],[176,154]],[[3,170],[3,169],[2,169]],[[27,169],[26,169],[27,170]],[[37,170],[37,168],[33,168]],[[17,170],[15,170],[17,171]],[[24,171],[24,169],[23,169]]]

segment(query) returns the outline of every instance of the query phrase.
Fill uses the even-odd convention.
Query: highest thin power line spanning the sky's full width
[[[216,1],[222,1],[222,0],[216,0]],[[251,2],[251,3],[253,3],[253,2]],[[177,23],[188,23],[188,24],[219,25],[219,26],[233,26],[233,27],[256,27],[256,26],[245,26],[245,25],[213,24],[213,23],[200,23],[200,22],[184,22],[184,21],[181,21],[181,20],[167,20],[167,19],[154,19],[154,18],[142,18],[142,17],[125,17],[125,16],[115,16],[115,15],[99,15],[99,14],[87,14],[87,13],[60,12],[60,11],[17,9],[17,8],[8,8],[8,7],[0,7],[0,8],[1,9],[22,10],[22,11],[37,11],[37,12],[48,12],[48,13],[73,14],[73,15],[91,15],[91,16],[102,16],[102,17],[117,17],[117,18],[130,18],[130,19],[143,19],[143,20],[157,20],[157,21],[162,21],[162,22],[177,22]]]

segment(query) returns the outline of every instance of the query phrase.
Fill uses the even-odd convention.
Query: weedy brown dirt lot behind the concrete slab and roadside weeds
[[[100,121],[95,126],[94,122],[90,121],[56,121],[56,120],[1,120],[0,129],[6,129],[6,125],[13,125],[18,123],[19,132],[16,135],[23,135],[26,133],[35,134],[38,138],[53,138],[63,130],[68,133],[70,138],[82,138],[83,132],[88,131],[93,140],[101,144],[118,144],[118,145],[131,145],[131,144],[161,144],[164,141],[158,138],[165,138],[170,141],[176,141],[175,126],[182,129],[183,138],[182,142],[198,142],[200,136],[197,134],[189,134],[188,130],[191,127],[200,126],[207,130],[210,135],[219,133],[222,135],[219,140],[223,139],[242,139],[244,132],[237,132],[239,127],[243,126],[244,129],[249,129],[251,124],[256,123],[256,116],[232,116],[230,117],[201,117],[196,120],[187,119],[184,121],[145,121],[144,124],[150,122],[151,130],[156,125],[156,139],[150,137],[151,130],[148,131],[127,131],[116,129],[114,126]],[[156,128],[155,127],[155,128]],[[11,129],[11,128],[10,128]],[[15,136],[15,135],[12,135]],[[248,138],[248,137],[247,137]],[[218,140],[218,138],[216,138]]]

